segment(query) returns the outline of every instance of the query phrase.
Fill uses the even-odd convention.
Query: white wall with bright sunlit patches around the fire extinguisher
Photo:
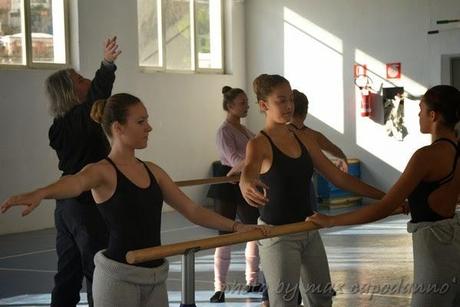
[[[377,89],[383,83],[421,95],[441,82],[441,56],[460,51],[460,29],[427,31],[436,28],[436,20],[455,16],[456,0],[248,0],[248,88],[260,73],[285,75],[310,99],[307,124],[359,158],[364,180],[386,190],[430,140],[418,130],[418,101],[406,100],[409,135],[403,142],[386,136],[381,101],[373,119],[361,117],[353,64],[367,64]],[[385,63],[393,62],[401,62],[403,76],[389,83]],[[253,107],[248,121],[258,131],[264,116]]]

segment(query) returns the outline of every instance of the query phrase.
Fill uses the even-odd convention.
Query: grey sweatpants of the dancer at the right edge
[[[413,307],[460,306],[460,216],[407,223],[414,253]]]

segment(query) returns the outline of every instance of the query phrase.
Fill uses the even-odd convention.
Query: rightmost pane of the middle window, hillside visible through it
[[[199,68],[222,68],[221,0],[196,0],[196,50]]]

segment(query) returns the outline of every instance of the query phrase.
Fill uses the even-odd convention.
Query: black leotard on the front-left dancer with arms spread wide
[[[105,256],[126,263],[128,251],[161,245],[163,194],[144,162],[141,161],[149,174],[150,185],[140,188],[123,175],[110,158],[106,160],[116,170],[117,186],[112,197],[97,205],[110,233]],[[163,262],[163,259],[158,259],[139,266],[156,267]]]

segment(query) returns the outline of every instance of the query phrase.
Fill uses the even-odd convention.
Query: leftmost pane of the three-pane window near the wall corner
[[[139,65],[163,66],[161,44],[161,23],[158,22],[157,0],[138,0],[138,36],[139,36]]]

